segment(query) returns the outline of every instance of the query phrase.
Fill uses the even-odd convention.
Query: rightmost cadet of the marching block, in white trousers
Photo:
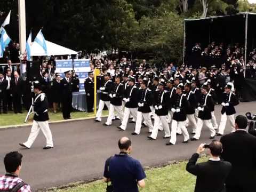
[[[235,93],[231,92],[232,85],[227,84],[225,86],[225,92],[223,93],[222,97],[222,103],[223,106],[221,109],[221,119],[220,119],[220,125],[219,125],[219,132],[218,136],[221,136],[224,134],[224,130],[226,127],[227,119],[229,121],[229,124],[232,128],[231,132],[235,132],[235,118],[234,114],[236,113],[235,107],[239,104],[239,101],[235,95]]]

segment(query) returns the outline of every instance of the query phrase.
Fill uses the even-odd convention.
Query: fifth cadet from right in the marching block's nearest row
[[[138,112],[137,112],[137,120],[135,125],[135,131],[132,135],[139,135],[141,130],[142,117],[144,119],[144,124],[148,126],[149,132],[153,131],[153,124],[150,118],[150,106],[153,104],[153,95],[150,89],[147,87],[148,81],[146,78],[142,80],[140,83],[140,89],[138,93],[139,103],[138,103]]]

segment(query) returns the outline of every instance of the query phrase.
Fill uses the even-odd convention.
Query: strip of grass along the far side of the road
[[[103,111],[103,115],[107,115],[108,111]],[[30,119],[27,123],[24,123],[24,120],[27,116],[27,111],[23,110],[23,114],[14,114],[12,111],[9,111],[8,114],[1,114],[0,115],[0,127],[1,126],[10,126],[10,125],[22,125],[22,124],[29,124],[32,122],[33,116],[30,115]],[[61,111],[58,111],[57,114],[52,113],[49,111],[50,122],[63,120]],[[94,113],[86,113],[81,111],[75,111],[71,113],[71,118],[85,118],[85,117],[94,117]]]

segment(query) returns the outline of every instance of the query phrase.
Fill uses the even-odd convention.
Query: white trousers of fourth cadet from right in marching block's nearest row
[[[150,135],[151,138],[153,138],[153,139],[157,138],[157,133],[158,133],[161,122],[162,122],[163,129],[164,129],[164,134],[165,134],[164,137],[171,136],[169,124],[167,123],[166,115],[164,115],[164,116],[155,115],[154,127],[153,127],[153,131]]]

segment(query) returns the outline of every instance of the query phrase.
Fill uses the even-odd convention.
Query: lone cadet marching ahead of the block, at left
[[[35,101],[34,101],[34,121],[31,127],[31,132],[29,134],[28,140],[25,143],[19,143],[20,146],[26,147],[29,149],[40,130],[42,130],[45,138],[46,138],[46,147],[43,149],[51,149],[53,148],[52,141],[52,132],[49,127],[49,115],[48,115],[48,101],[45,93],[42,92],[42,86],[39,83],[35,83],[34,85]]]

